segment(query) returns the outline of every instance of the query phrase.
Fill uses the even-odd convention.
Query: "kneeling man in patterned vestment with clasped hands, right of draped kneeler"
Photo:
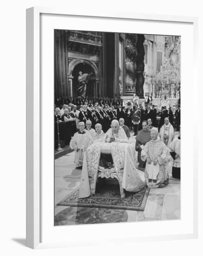
[[[144,172],[145,182],[149,188],[162,187],[165,181],[164,163],[168,149],[163,141],[158,139],[158,129],[151,129],[151,141],[147,142],[141,152],[141,158],[146,160]]]

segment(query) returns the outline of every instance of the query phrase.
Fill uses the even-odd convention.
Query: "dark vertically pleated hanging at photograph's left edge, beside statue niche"
[[[67,30],[54,30],[54,88],[55,98],[68,96],[68,39]]]

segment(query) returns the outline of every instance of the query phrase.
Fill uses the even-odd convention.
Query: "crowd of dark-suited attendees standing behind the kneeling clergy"
[[[152,126],[160,129],[164,124],[164,118],[169,117],[170,123],[174,126],[173,113],[171,114],[171,109],[169,111],[166,107],[162,108],[159,113],[160,121],[157,122],[157,110],[154,105],[148,105],[144,110],[143,106],[134,106],[133,108],[129,105],[127,107],[122,107],[121,104],[115,108],[113,105],[63,105],[63,107],[55,108],[54,118],[55,123],[57,119],[59,120],[59,133],[65,144],[69,144],[70,138],[78,129],[79,121],[86,122],[90,120],[92,122],[92,127],[96,123],[100,123],[103,127],[104,132],[106,132],[111,125],[112,120],[124,119],[125,125],[131,130],[134,130],[134,135],[137,135],[138,131],[142,129],[142,121],[151,120]],[[180,108],[178,107],[176,113],[177,129],[180,126]],[[173,119],[172,119],[173,118]],[[63,123],[61,123],[63,122]],[[55,124],[56,126],[56,124]],[[56,129],[55,129],[56,130]]]

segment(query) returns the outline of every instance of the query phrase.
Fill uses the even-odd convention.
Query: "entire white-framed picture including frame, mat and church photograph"
[[[27,9],[28,247],[197,237],[196,39],[193,17]]]

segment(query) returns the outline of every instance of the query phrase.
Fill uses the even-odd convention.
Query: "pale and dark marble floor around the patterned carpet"
[[[129,142],[134,144],[135,136]],[[73,159],[71,152],[55,160],[55,225],[180,219],[180,181],[172,177],[167,187],[150,190],[144,211],[57,206],[79,187],[82,170]]]

